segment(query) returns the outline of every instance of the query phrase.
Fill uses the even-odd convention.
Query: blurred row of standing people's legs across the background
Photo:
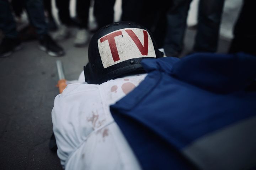
[[[166,56],[180,57],[187,28],[187,15],[192,0],[148,1],[122,0],[121,21],[142,24],[152,33],[159,48]],[[114,21],[116,0],[76,0],[76,16],[71,17],[70,0],[54,0],[60,24],[53,17],[52,0],[0,0],[0,29],[4,37],[0,44],[0,57],[8,57],[21,49],[21,41],[38,39],[39,49],[51,56],[63,56],[65,51],[57,41],[69,38],[71,28],[76,27],[74,46],[82,47],[90,40],[90,34]],[[244,0],[234,26],[234,39],[229,52],[247,52],[255,55],[253,39],[255,26],[254,0]],[[89,9],[93,6],[97,28],[89,30]],[[216,52],[222,19],[224,0],[199,0],[197,34],[194,52]],[[26,10],[30,25],[17,31]],[[50,34],[49,31],[53,33]]]

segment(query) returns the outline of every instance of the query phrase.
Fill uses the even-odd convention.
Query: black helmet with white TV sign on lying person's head
[[[92,37],[85,81],[101,84],[123,74],[144,70],[144,58],[163,57],[148,29],[134,22],[115,22]]]

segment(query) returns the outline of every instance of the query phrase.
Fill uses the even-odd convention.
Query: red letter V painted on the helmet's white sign
[[[131,29],[127,29],[125,31],[127,32],[127,34],[129,34],[130,38],[132,38],[133,42],[137,45],[138,49],[140,50],[140,53],[143,56],[148,55],[148,32],[143,30],[144,45],[142,46],[142,43],[140,42],[138,36]]]

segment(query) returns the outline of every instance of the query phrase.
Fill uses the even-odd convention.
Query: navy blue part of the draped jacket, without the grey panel
[[[256,57],[199,53],[145,59],[145,80],[110,107],[143,169],[194,168],[179,152],[256,115]]]

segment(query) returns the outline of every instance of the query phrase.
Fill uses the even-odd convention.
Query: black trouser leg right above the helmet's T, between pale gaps
[[[95,0],[94,15],[98,23],[98,28],[113,22],[114,3],[116,0]]]

